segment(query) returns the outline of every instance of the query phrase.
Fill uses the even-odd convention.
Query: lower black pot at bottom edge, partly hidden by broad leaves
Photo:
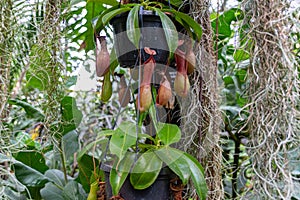
[[[112,195],[112,189],[109,182],[110,167],[102,166],[102,170],[105,172],[105,192],[106,198],[110,199]],[[134,189],[130,183],[129,176],[125,180],[123,186],[120,189],[120,196],[124,200],[169,200],[171,199],[170,180],[173,173],[167,167],[162,168],[155,182],[144,190]]]

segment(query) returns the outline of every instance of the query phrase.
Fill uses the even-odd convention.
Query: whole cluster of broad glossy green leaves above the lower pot
[[[99,133],[99,138],[111,138],[109,155],[114,156],[114,159],[110,166],[110,184],[113,195],[118,195],[128,176],[135,189],[148,188],[154,183],[162,168],[167,166],[179,176],[184,185],[191,178],[197,194],[201,199],[205,199],[207,188],[202,166],[191,155],[171,147],[181,138],[178,126],[158,123],[156,127],[155,137],[141,133],[141,127],[131,122],[121,123],[116,130]],[[141,141],[149,142],[141,143]],[[100,139],[85,148],[83,153],[97,142],[103,140]]]

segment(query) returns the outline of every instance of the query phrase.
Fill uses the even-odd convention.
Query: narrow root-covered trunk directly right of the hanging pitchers
[[[209,0],[191,2],[191,13],[203,34],[196,48],[197,66],[192,74],[192,91],[184,103],[182,124],[186,150],[197,156],[205,168],[207,199],[223,199],[222,154],[219,146],[218,68],[210,23]]]

